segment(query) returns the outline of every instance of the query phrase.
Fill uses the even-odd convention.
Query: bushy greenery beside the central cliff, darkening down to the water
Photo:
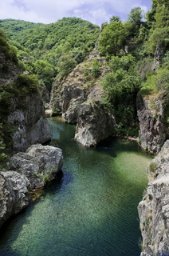
[[[116,133],[138,136],[136,118],[136,95],[140,90],[141,78],[135,69],[135,58],[132,55],[122,58],[112,57],[110,61],[113,73],[102,81],[107,94],[104,104],[113,110],[118,124]]]

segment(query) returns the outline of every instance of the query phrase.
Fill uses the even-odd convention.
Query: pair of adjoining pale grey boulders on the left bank
[[[25,208],[31,192],[56,177],[63,164],[61,149],[53,146],[30,146],[26,153],[10,159],[10,171],[0,171],[0,226]]]

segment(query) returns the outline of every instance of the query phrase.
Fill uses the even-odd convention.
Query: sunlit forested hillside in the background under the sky
[[[51,89],[53,78],[69,74],[95,46],[100,28],[81,18],[62,18],[52,24],[0,20],[19,65],[37,74],[41,85]]]

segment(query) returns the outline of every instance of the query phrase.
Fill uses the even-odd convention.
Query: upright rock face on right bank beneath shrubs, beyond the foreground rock
[[[140,146],[144,149],[159,152],[168,137],[167,122],[163,102],[165,95],[137,98],[137,114],[140,121]]]

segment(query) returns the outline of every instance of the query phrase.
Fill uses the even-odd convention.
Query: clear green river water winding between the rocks
[[[75,127],[49,118],[63,174],[0,235],[0,256],[139,256],[137,205],[151,156],[115,138],[86,149]]]

